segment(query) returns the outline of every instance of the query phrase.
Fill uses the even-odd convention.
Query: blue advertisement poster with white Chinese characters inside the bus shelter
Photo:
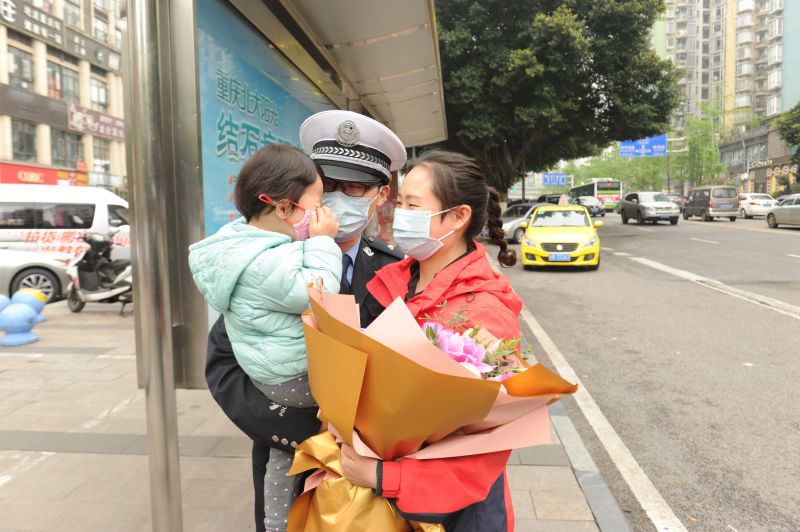
[[[267,144],[302,150],[298,129],[335,106],[224,0],[197,2],[205,234],[239,216],[242,164]]]

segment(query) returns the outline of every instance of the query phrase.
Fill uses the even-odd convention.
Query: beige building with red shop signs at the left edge
[[[0,183],[123,194],[120,0],[0,0]]]

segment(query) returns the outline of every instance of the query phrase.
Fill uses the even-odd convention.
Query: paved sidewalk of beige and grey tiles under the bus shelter
[[[0,531],[150,530],[133,317],[117,310],[49,305],[39,342],[0,347]],[[184,529],[253,530],[249,440],[208,391],[177,398]],[[557,427],[569,424],[563,410],[553,414]],[[598,530],[574,451],[555,431],[553,442],[509,461],[517,530]]]

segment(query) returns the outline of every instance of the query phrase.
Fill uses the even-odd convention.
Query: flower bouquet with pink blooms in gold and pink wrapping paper
[[[309,295],[309,384],[329,432],[297,448],[290,474],[315,472],[292,505],[290,531],[437,530],[405,521],[386,499],[343,478],[338,441],[381,460],[540,445],[550,441],[545,407],[577,389],[539,364],[528,367],[519,339],[434,322],[420,328],[400,299],[362,330],[352,296]]]

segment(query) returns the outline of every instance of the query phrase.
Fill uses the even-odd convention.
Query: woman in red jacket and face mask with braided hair
[[[480,325],[494,336],[520,335],[522,301],[489,264],[475,242],[485,225],[500,247],[498,260],[516,263],[503,239],[497,192],[475,160],[434,150],[412,162],[394,212],[394,237],[407,257],[379,270],[367,285],[368,305],[402,298],[420,322],[446,323],[456,314],[465,327]],[[381,462],[345,445],[344,476],[393,499],[408,519],[442,523],[448,532],[514,530],[506,482],[510,451],[438,460]]]

